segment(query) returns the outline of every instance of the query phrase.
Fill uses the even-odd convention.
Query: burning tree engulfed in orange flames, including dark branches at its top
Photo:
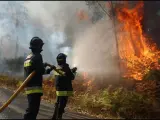
[[[143,2],[107,1],[108,8],[99,1],[87,4],[92,8],[98,5],[113,20],[123,77],[142,80],[159,71],[160,51],[142,29]]]

